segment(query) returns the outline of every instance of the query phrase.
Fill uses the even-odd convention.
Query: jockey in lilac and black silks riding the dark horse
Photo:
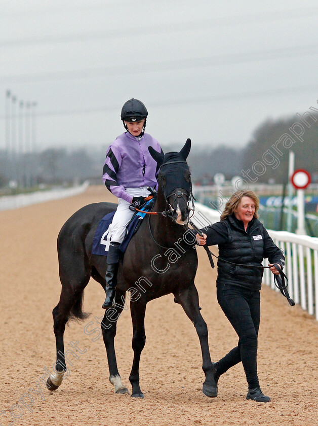
[[[120,243],[126,235],[126,227],[134,215],[129,209],[142,207],[150,192],[147,187],[156,189],[158,167],[151,157],[148,147],[163,152],[158,141],[145,133],[148,112],[138,99],[124,103],[121,118],[127,130],[114,140],[106,152],[103,168],[103,181],[107,189],[118,197],[118,207],[112,220],[110,245],[106,269],[106,299],[103,309],[112,306],[117,283]]]

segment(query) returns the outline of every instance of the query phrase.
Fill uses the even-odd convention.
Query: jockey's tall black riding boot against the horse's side
[[[113,242],[109,244],[108,256],[107,256],[107,267],[106,267],[106,299],[102,305],[103,309],[106,309],[113,304],[115,297],[115,288],[117,284],[117,271],[119,262],[119,243]]]

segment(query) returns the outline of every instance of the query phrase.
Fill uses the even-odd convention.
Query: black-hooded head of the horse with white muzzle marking
[[[185,225],[189,220],[189,202],[192,197],[191,173],[186,162],[191,140],[187,139],[180,152],[158,153],[152,147],[149,152],[158,166],[158,193],[166,199],[166,212],[177,224]]]

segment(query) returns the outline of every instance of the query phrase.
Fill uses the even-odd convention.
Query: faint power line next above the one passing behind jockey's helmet
[[[295,46],[280,49],[263,50],[258,52],[242,52],[234,55],[215,55],[203,58],[176,59],[161,62],[136,63],[129,67],[123,65],[86,68],[70,71],[20,74],[10,76],[0,76],[0,83],[16,82],[45,82],[56,80],[85,79],[103,76],[117,76],[125,74],[143,74],[170,71],[174,69],[201,68],[217,65],[229,65],[235,63],[245,63],[262,61],[269,59],[293,58],[297,56],[315,55],[318,53],[318,44],[308,46]]]

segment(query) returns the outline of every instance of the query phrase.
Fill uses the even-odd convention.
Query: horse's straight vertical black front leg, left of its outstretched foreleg
[[[145,335],[145,312],[146,304],[132,302],[130,304],[131,317],[133,321],[133,350],[134,350],[134,361],[132,370],[129,376],[129,381],[133,387],[132,397],[134,398],[144,398],[143,393],[141,392],[139,386],[139,362],[141,351],[146,343]]]

